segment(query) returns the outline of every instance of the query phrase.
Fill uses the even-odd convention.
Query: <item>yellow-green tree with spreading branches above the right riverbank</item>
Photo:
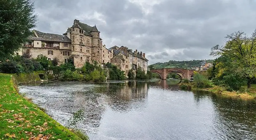
[[[256,30],[251,36],[238,31],[225,38],[225,46],[213,46],[210,55],[227,56],[236,67],[234,73],[243,75],[247,79],[247,88],[250,88],[252,80],[256,77]]]

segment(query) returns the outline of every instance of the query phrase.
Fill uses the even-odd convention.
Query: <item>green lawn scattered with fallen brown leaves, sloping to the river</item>
[[[27,140],[43,137],[81,140],[17,94],[10,74],[0,74],[0,139]]]

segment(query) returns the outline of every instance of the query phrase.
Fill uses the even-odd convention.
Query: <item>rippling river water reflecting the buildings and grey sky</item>
[[[83,109],[76,128],[91,140],[256,139],[255,101],[181,91],[179,82],[48,82],[20,92],[65,126]]]

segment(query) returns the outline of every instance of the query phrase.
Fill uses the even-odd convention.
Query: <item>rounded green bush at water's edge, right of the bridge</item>
[[[210,88],[212,87],[210,81],[207,80],[202,74],[195,73],[193,82],[196,88]]]

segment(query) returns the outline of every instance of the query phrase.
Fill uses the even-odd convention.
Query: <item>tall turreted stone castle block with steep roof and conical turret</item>
[[[85,62],[93,63],[93,61],[100,64],[102,39],[96,25],[89,26],[75,19],[69,31],[74,65],[79,68],[83,67]]]

